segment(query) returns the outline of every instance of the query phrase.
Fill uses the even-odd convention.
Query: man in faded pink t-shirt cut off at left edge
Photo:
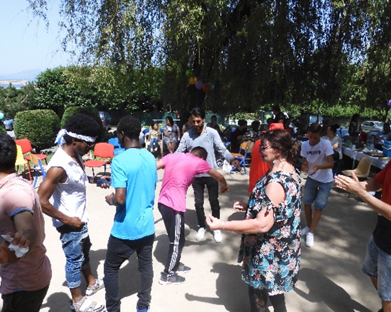
[[[0,132],[1,311],[39,312],[52,278],[43,246],[45,222],[37,192],[15,171],[16,159],[14,140]],[[19,253],[17,247],[28,250]]]

